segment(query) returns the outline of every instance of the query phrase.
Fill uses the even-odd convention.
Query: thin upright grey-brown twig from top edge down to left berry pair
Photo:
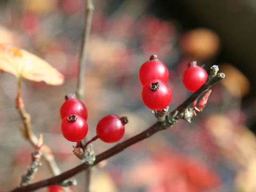
[[[87,45],[90,38],[91,32],[91,23],[92,23],[92,14],[94,10],[94,5],[92,0],[87,0],[87,7],[85,11],[85,21],[83,26],[83,34],[81,40],[81,50],[80,50],[80,59],[79,59],[79,74],[77,82],[77,98],[83,101],[84,98],[84,73],[85,73],[85,63],[86,63],[86,54],[87,54]]]

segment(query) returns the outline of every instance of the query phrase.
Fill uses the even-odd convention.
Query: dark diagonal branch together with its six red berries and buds
[[[88,126],[86,123],[87,110],[83,102],[79,101],[74,94],[71,94],[71,96],[67,95],[66,101],[63,103],[60,109],[60,114],[62,118],[61,130],[63,136],[67,140],[77,142],[77,145],[74,149],[74,154],[77,155],[78,158],[81,158],[84,163],[55,177],[38,181],[31,185],[23,186],[22,188],[16,188],[11,192],[31,191],[44,186],[61,183],[64,180],[72,177],[73,175],[85,169],[89,169],[90,166],[96,165],[104,159],[120,153],[125,148],[143,139],[149,138],[156,132],[165,130],[167,127],[173,126],[181,118],[190,121],[192,117],[194,117],[197,113],[201,112],[202,109],[205,107],[207,98],[210,94],[210,91],[208,91],[209,88],[215,83],[221,81],[221,79],[225,78],[225,74],[218,74],[218,66],[213,66],[211,68],[210,76],[207,78],[207,74],[205,75],[204,70],[201,67],[196,66],[195,62],[190,63],[187,69],[189,70],[189,73],[185,71],[183,76],[188,75],[196,77],[197,75],[199,75],[200,78],[198,78],[201,79],[200,74],[202,73],[203,78],[199,84],[200,86],[197,84],[199,81],[198,78],[191,78],[190,81],[194,81],[194,83],[197,84],[196,88],[193,87],[192,90],[195,93],[193,93],[185,102],[183,102],[180,106],[178,106],[171,113],[169,113],[168,106],[172,100],[172,91],[167,85],[166,77],[168,77],[168,75],[166,74],[168,74],[168,72],[166,72],[165,70],[167,69],[167,67],[163,67],[163,63],[159,62],[156,58],[156,55],[150,57],[150,62],[153,62],[152,68],[155,69],[154,73],[152,73],[154,75],[149,76],[142,81],[143,87],[141,95],[145,105],[150,109],[154,110],[154,114],[158,119],[157,123],[149,127],[147,130],[135,135],[134,137],[122,141],[116,146],[106,151],[103,151],[97,156],[94,156],[91,149],[86,149],[87,145],[89,145],[89,143],[95,141],[98,138],[101,139],[103,142],[107,143],[120,141],[125,132],[124,125],[128,122],[127,117],[119,117],[117,115],[107,115],[103,117],[95,128],[95,132],[97,133],[97,135],[91,140],[87,141],[85,144],[83,144],[82,140],[85,138],[88,131]],[[145,65],[145,63],[143,65]],[[150,65],[152,65],[152,63]],[[159,68],[161,68],[159,66],[162,66],[162,68],[164,68],[165,75],[161,75],[161,70],[158,70]],[[150,72],[148,71],[149,69],[143,70],[145,70],[144,73]],[[141,72],[143,70],[140,70],[139,78],[143,78],[143,73]],[[191,72],[190,70],[194,72]],[[207,80],[205,79],[205,76]],[[190,107],[191,104],[204,93],[206,93],[206,95],[198,102],[198,106]]]

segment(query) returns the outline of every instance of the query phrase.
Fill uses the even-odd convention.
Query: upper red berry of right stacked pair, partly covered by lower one
[[[150,80],[160,79],[167,83],[169,71],[164,63],[157,59],[157,55],[151,55],[149,61],[142,64],[139,70],[139,80],[141,85],[145,85]]]

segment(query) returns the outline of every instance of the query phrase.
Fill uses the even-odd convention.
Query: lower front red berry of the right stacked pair
[[[145,84],[141,91],[144,104],[152,110],[163,110],[172,101],[172,90],[163,81],[157,79]]]

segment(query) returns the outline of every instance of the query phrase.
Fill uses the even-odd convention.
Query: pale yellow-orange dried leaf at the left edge
[[[51,85],[63,83],[64,76],[49,63],[10,44],[0,44],[0,70],[31,81]]]

